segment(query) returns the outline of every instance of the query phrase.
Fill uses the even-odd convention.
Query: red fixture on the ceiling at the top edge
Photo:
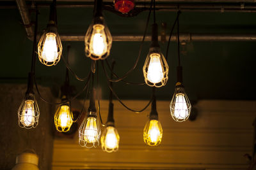
[[[129,13],[134,8],[134,0],[115,0],[115,10]]]

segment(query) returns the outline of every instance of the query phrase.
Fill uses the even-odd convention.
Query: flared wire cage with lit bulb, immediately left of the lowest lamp
[[[79,127],[79,145],[92,148],[99,146],[100,124],[97,113],[90,111]]]

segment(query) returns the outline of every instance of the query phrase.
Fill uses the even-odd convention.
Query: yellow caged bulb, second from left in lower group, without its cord
[[[68,105],[61,105],[54,115],[54,124],[59,132],[67,132],[73,124],[72,112]]]

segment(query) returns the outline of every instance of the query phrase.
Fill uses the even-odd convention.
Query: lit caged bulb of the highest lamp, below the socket
[[[112,46],[112,36],[104,24],[92,24],[84,38],[85,53],[93,60],[106,59]]]

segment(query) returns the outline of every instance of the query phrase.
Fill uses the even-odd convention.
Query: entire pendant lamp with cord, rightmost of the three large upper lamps
[[[145,83],[151,87],[162,87],[168,80],[169,67],[158,44],[158,32],[154,1],[154,24],[152,25],[152,43],[143,66]]]

